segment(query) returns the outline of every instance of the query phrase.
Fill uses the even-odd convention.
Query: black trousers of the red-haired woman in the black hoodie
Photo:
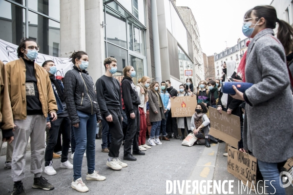
[[[125,109],[126,117],[127,117],[127,131],[126,131],[126,137],[124,142],[124,155],[131,154],[131,145],[133,146],[132,150],[133,152],[138,152],[138,137],[140,132],[140,115],[138,106],[133,106],[133,112],[135,115],[135,118],[130,118],[130,113],[128,109]]]

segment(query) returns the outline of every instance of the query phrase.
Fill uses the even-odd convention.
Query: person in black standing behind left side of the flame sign
[[[172,98],[177,97],[178,91],[171,86],[171,81],[166,80],[167,92]],[[167,118],[167,134],[168,138],[172,138],[172,133],[174,133],[174,138],[179,139],[178,137],[178,128],[177,128],[177,118],[172,117],[171,110],[169,111]]]

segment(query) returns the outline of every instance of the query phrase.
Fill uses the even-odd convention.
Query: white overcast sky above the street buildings
[[[242,33],[246,11],[272,0],[176,0],[176,6],[188,6],[197,22],[203,53],[213,56],[227,46],[245,39]]]

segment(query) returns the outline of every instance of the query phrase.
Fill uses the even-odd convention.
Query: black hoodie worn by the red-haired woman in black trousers
[[[136,86],[130,77],[125,77],[122,80],[122,98],[125,108],[129,113],[133,113],[133,108],[140,105],[140,98],[137,93]]]

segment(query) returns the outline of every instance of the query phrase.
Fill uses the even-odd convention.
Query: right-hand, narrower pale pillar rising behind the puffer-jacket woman
[[[103,0],[84,0],[86,52],[89,57],[87,71],[94,83],[105,73],[105,43]]]

